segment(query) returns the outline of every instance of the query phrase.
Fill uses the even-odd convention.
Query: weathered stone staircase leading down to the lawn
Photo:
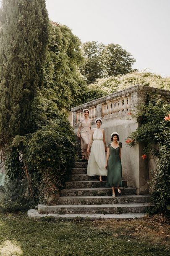
[[[41,218],[140,218],[150,205],[149,195],[136,195],[136,189],[122,182],[121,194],[112,198],[112,189],[98,176],[86,176],[86,162],[76,162],[72,174],[60,191],[58,205],[38,205],[28,211],[28,216]],[[104,178],[104,177],[103,177]]]

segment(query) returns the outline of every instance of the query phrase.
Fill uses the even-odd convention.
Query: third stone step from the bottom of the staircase
[[[60,197],[58,205],[104,205],[143,202],[150,202],[150,195],[119,195],[115,198],[111,196]]]

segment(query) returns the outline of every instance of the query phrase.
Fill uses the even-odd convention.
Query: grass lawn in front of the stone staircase
[[[0,214],[0,256],[167,256],[169,231],[162,215],[56,221]]]

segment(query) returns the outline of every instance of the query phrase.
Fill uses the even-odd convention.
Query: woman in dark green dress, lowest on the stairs
[[[105,168],[107,169],[106,187],[112,187],[112,197],[115,197],[115,186],[118,193],[121,193],[119,186],[122,183],[122,164],[121,164],[121,148],[122,143],[119,142],[117,132],[111,134],[111,143],[107,145],[107,156]]]

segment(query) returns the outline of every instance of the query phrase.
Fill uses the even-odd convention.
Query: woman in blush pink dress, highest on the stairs
[[[82,159],[89,159],[89,153],[87,152],[87,147],[90,141],[91,134],[91,124],[92,119],[89,118],[89,109],[85,108],[83,110],[84,117],[80,119],[79,129],[77,132],[77,137],[81,138],[81,155]]]

